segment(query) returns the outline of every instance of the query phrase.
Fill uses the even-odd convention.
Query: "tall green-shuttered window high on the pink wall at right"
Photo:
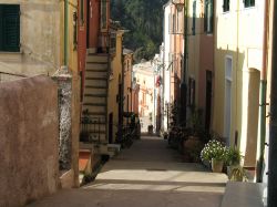
[[[214,0],[205,1],[204,31],[213,33],[214,28]]]

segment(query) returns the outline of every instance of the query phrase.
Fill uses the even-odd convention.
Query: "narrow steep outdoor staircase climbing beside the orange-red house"
[[[82,111],[90,117],[86,131],[92,143],[107,143],[107,80],[109,54],[88,50]]]

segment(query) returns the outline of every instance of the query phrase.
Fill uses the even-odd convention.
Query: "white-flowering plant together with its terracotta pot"
[[[209,141],[201,152],[201,159],[209,162],[214,173],[222,173],[226,161],[226,147],[219,141]]]

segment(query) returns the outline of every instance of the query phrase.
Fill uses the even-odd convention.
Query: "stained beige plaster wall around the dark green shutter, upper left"
[[[0,53],[0,71],[52,74],[60,66],[60,8],[57,0],[1,0],[20,4],[20,53]]]

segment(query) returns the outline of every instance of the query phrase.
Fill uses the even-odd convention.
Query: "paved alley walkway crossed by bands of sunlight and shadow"
[[[143,137],[110,161],[94,183],[29,207],[219,207],[226,180],[182,163],[166,141]]]

